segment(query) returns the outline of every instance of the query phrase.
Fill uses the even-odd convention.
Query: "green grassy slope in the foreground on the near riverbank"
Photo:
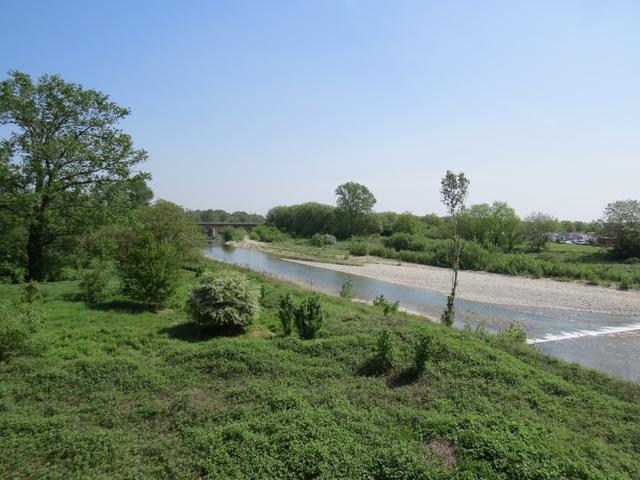
[[[268,306],[305,295],[250,275]],[[322,338],[272,335],[272,308],[209,338],[43,290],[47,348],[0,364],[0,478],[640,478],[640,387],[526,346],[331,297]],[[360,374],[383,327],[397,367]],[[445,353],[411,381],[421,330]]]

